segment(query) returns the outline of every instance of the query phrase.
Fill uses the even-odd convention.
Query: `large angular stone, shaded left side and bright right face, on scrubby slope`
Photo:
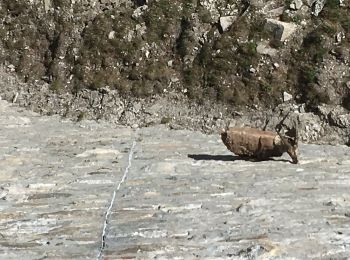
[[[277,40],[285,41],[291,37],[298,26],[294,23],[285,23],[275,19],[266,19],[265,29],[271,31]]]

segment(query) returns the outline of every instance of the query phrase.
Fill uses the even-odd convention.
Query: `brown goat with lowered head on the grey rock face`
[[[292,133],[295,136],[282,136],[279,131],[274,133],[248,127],[228,128],[221,133],[221,139],[227,149],[239,156],[265,160],[287,152],[293,163],[298,163],[297,132]]]

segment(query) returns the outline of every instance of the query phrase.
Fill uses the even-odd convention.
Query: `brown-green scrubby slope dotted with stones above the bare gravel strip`
[[[108,86],[125,97],[177,91],[199,103],[273,107],[288,92],[310,107],[350,107],[350,15],[338,0],[318,16],[291,1],[49,2],[0,3],[0,58],[58,93]],[[298,29],[282,41],[267,18]]]

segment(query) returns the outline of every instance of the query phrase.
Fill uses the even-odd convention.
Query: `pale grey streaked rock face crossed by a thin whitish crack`
[[[218,135],[0,101],[1,259],[346,259],[349,154],[252,162]]]

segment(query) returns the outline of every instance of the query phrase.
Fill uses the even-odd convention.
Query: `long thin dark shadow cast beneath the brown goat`
[[[242,157],[237,155],[211,155],[211,154],[188,154],[188,158],[191,158],[196,161],[248,161],[248,162],[262,162],[262,161],[275,161],[275,162],[289,162],[292,163],[290,160],[286,159],[274,159],[269,158],[266,160],[259,160],[256,158],[251,157]]]

